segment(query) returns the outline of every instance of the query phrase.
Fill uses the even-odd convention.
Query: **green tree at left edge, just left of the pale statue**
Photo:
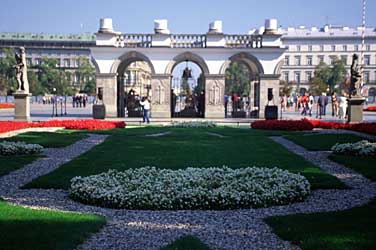
[[[17,88],[16,59],[14,57],[14,50],[10,48],[3,49],[5,57],[0,58],[0,92],[8,94]]]

